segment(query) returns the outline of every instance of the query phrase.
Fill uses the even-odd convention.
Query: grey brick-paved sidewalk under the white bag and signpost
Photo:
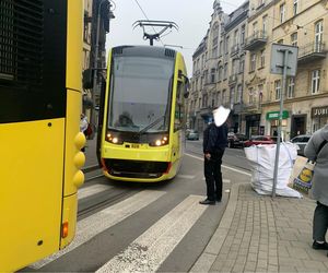
[[[328,272],[312,249],[315,201],[262,197],[233,185],[226,211],[191,272]]]

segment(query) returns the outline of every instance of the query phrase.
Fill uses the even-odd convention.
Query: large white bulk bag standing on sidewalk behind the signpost
[[[245,154],[253,171],[251,187],[259,194],[272,193],[276,149],[276,144],[245,147]],[[288,187],[296,156],[297,145],[290,142],[280,144],[277,195],[302,198],[300,192]]]

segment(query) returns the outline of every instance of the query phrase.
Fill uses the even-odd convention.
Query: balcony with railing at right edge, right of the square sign
[[[298,64],[309,63],[326,58],[325,43],[311,43],[298,48]]]

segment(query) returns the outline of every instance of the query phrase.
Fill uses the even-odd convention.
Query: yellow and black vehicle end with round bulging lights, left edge
[[[0,1],[0,272],[70,244],[85,138],[78,0]]]

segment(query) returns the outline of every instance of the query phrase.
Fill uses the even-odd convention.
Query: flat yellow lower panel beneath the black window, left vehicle
[[[59,249],[65,119],[0,124],[0,131],[3,272]]]

